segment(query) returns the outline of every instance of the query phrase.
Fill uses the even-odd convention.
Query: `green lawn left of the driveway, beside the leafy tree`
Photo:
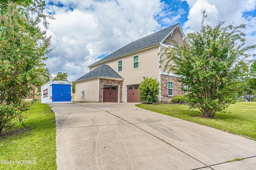
[[[0,137],[0,170],[57,169],[54,112],[36,102],[25,116],[26,127],[18,124]]]

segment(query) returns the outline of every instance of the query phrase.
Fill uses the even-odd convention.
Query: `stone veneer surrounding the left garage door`
[[[120,102],[122,102],[122,81],[121,80],[109,80],[100,78],[100,96],[99,102],[103,102],[103,84],[119,85],[120,86]]]

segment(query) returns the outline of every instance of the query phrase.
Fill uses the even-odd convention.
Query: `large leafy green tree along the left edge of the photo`
[[[0,134],[22,121],[29,109],[23,99],[50,51],[50,37],[38,27],[40,17],[33,20],[24,6],[8,3],[0,15]]]

